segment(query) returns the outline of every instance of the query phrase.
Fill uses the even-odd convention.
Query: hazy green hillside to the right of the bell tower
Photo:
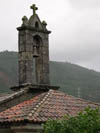
[[[70,95],[100,102],[100,73],[67,62],[50,62],[52,84]]]

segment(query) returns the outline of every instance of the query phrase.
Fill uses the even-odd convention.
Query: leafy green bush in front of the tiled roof
[[[99,131],[99,109],[86,108],[77,116],[66,116],[62,120],[49,120],[44,124],[44,133],[98,133]]]

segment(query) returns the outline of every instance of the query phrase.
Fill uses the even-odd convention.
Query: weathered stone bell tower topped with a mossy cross
[[[22,18],[19,31],[19,85],[24,83],[49,85],[49,34],[46,22],[41,22],[33,4],[33,15]],[[34,80],[35,79],[35,80]]]

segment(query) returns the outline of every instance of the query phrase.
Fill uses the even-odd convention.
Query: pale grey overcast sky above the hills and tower
[[[50,35],[50,59],[100,71],[100,0],[1,0],[0,51],[17,51],[16,27],[35,3]]]

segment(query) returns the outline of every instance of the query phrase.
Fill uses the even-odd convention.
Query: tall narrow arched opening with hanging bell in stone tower
[[[33,37],[33,65],[35,83],[40,84],[43,65],[42,38],[39,35]]]

